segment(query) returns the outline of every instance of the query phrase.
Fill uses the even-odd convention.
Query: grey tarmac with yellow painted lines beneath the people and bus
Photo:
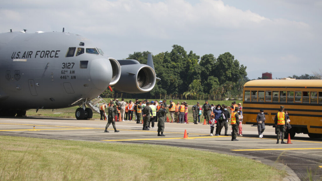
[[[2,117],[0,135],[186,147],[258,160],[286,170],[289,176],[284,180],[322,180],[322,139],[312,140],[307,134],[296,134],[292,144],[276,144],[272,126],[266,126],[264,137],[259,138],[257,127],[243,125],[243,136],[237,138],[239,141],[231,141],[231,126],[228,128],[230,136],[223,136],[224,128],[222,136],[210,136],[209,125],[165,123],[166,136],[159,137],[157,123],[156,128],[143,131],[142,124],[134,121],[116,122],[120,132],[114,132],[110,125],[109,133],[104,133],[106,123],[69,118]],[[188,139],[183,139],[185,130],[189,134]]]

